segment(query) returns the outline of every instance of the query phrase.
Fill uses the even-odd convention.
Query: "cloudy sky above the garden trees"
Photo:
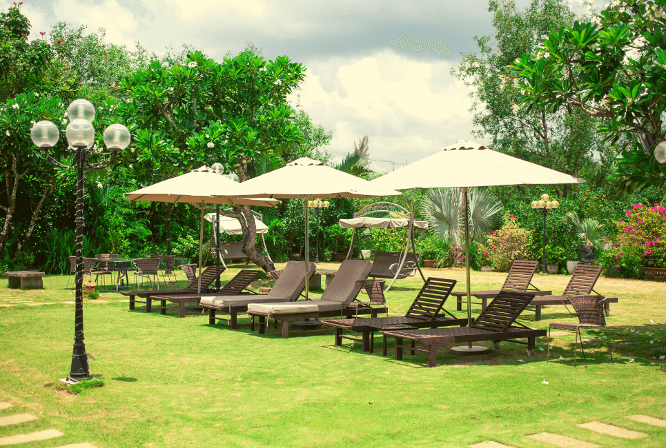
[[[570,0],[582,10],[582,0]],[[7,10],[12,1],[0,0]],[[529,0],[516,0],[520,8]],[[308,77],[298,98],[315,123],[333,131],[329,150],[353,150],[369,136],[373,168],[411,163],[471,139],[469,88],[449,70],[475,36],[493,34],[487,0],[27,0],[32,33],[66,21],[106,28],[107,40],[163,52],[194,45],[210,57],[243,50],[287,55]],[[398,39],[402,47],[391,45]],[[31,36],[31,37],[34,37]],[[395,42],[395,41],[394,41]],[[450,54],[447,50],[450,49]],[[484,141],[483,139],[476,139]],[[398,165],[395,165],[396,167]]]

